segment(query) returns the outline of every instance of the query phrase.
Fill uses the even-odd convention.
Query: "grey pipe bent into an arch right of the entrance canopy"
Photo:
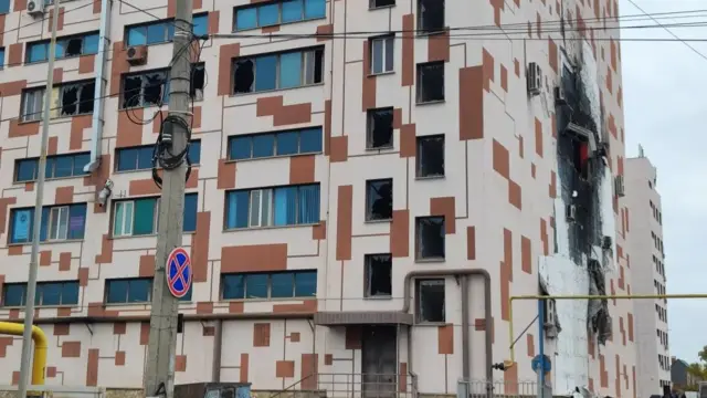
[[[471,380],[472,370],[471,370],[471,359],[469,359],[469,341],[468,341],[468,275],[478,275],[484,279],[484,320],[486,323],[485,331],[485,341],[486,341],[486,380],[487,386],[492,386],[492,380],[494,377],[494,373],[492,369],[493,365],[493,350],[492,350],[492,341],[493,341],[493,331],[492,331],[492,312],[490,312],[490,275],[486,270],[478,269],[457,269],[457,270],[433,270],[433,271],[412,271],[405,275],[405,280],[403,282],[403,305],[401,312],[409,313],[410,312],[410,282],[413,279],[418,277],[428,277],[428,276],[464,276],[462,277],[462,367],[463,367],[463,376],[465,380]],[[412,371],[412,327],[408,327],[408,370],[412,375],[413,378],[416,379],[418,375]],[[486,397],[490,398],[492,390],[487,388]]]

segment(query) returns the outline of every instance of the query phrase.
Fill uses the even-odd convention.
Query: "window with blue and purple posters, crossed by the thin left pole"
[[[10,243],[32,242],[34,208],[10,211]],[[86,203],[46,206],[42,209],[40,241],[77,240],[84,238]]]

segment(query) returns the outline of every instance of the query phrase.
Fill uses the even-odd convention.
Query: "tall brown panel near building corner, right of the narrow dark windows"
[[[484,66],[460,70],[460,139],[484,138]]]

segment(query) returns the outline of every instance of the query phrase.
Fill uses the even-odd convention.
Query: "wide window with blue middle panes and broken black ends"
[[[324,82],[324,48],[241,57],[233,65],[233,93],[293,88]]]

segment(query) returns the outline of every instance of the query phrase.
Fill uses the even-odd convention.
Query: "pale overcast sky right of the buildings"
[[[648,13],[706,10],[707,0],[633,0]],[[620,0],[622,15],[641,13]],[[662,23],[707,22],[707,12],[694,19],[659,19]],[[627,22],[648,24],[651,21]],[[706,24],[707,25],[707,24]],[[671,28],[680,39],[706,39],[706,28]],[[671,38],[664,29],[631,29],[622,38]],[[707,42],[690,42],[707,56]],[[621,44],[626,156],[646,157],[657,167],[663,201],[663,234],[668,293],[707,293],[707,60],[680,42]],[[645,264],[651,265],[651,264]],[[668,301],[671,355],[687,362],[707,345],[707,300]]]

